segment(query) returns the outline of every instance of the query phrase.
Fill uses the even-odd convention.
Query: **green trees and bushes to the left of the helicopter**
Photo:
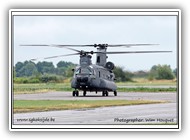
[[[18,62],[13,67],[14,83],[47,83],[63,82],[73,76],[72,69],[76,64],[60,61],[56,67],[52,62],[32,61]]]

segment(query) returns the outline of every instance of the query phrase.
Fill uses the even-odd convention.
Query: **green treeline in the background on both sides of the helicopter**
[[[56,67],[52,62],[32,61],[18,62],[13,67],[14,83],[47,83],[69,81],[73,76],[72,69],[76,64],[60,61]],[[149,71],[130,72],[122,67],[115,67],[116,82],[133,81],[133,78],[175,79],[177,69],[172,70],[169,65],[154,65]]]

